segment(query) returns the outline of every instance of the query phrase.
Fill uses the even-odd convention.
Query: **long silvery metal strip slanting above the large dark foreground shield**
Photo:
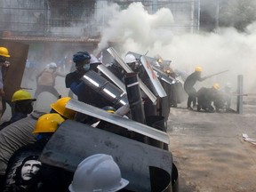
[[[162,141],[166,144],[170,143],[169,136],[166,132],[158,131],[146,124],[140,124],[139,122],[132,121],[131,119],[125,118],[123,116],[117,116],[115,114],[108,113],[101,108],[96,108],[79,100],[69,100],[66,104],[66,108],[70,108],[88,116],[94,116],[111,124],[124,127],[125,129],[131,130],[132,132],[138,132],[148,136],[149,138]]]

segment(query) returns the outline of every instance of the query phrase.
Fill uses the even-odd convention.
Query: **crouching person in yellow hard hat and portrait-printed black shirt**
[[[18,149],[5,174],[4,192],[65,192],[67,172],[40,162],[44,146],[65,119],[57,113],[40,116],[33,131],[36,142]],[[70,177],[71,178],[71,177]],[[65,186],[67,183],[67,186]]]

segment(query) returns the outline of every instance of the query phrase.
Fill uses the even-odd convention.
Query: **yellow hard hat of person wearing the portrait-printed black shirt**
[[[33,133],[55,132],[63,121],[65,119],[60,114],[44,114],[38,118]]]

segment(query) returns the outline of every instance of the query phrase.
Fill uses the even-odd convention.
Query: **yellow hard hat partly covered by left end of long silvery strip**
[[[61,116],[65,116],[68,119],[74,119],[76,115],[76,111],[66,108],[66,104],[71,100],[70,97],[60,98],[52,103],[51,108],[59,113]]]

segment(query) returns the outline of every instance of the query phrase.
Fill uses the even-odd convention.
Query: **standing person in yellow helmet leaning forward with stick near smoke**
[[[195,72],[189,75],[184,82],[184,90],[188,93],[188,109],[196,108],[196,89],[194,88],[194,85],[196,84],[196,81],[202,82],[206,79],[206,77],[201,77],[202,70],[201,67],[196,67]],[[193,108],[191,108],[191,104],[193,104]]]

